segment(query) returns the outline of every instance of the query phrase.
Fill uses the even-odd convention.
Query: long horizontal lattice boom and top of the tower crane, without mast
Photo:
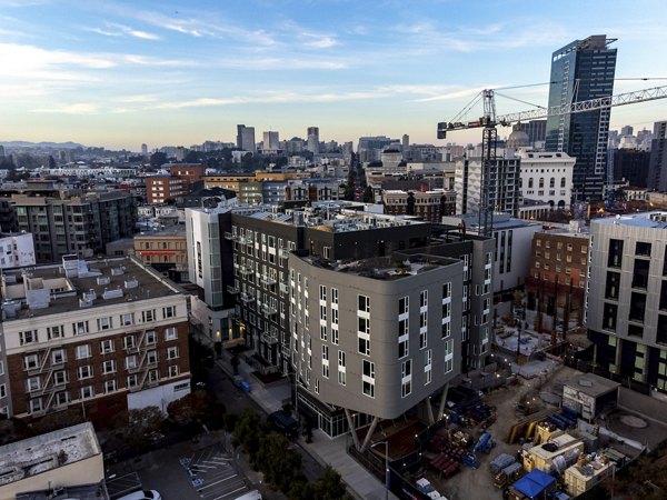
[[[618,93],[587,101],[571,102],[564,106],[552,106],[550,108],[539,108],[516,113],[495,116],[494,91],[484,90],[485,116],[477,121],[469,122],[440,122],[438,123],[438,139],[445,139],[447,132],[455,130],[478,129],[481,127],[508,127],[511,123],[525,120],[539,120],[542,118],[576,114],[598,109],[614,108],[617,106],[635,104],[637,102],[655,101],[667,98],[667,86],[653,87],[650,89],[637,90],[635,92]]]

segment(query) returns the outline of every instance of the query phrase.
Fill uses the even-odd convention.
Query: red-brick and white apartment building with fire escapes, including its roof
[[[9,417],[82,409],[93,422],[167,406],[190,390],[187,299],[136,259],[2,274],[1,361]]]

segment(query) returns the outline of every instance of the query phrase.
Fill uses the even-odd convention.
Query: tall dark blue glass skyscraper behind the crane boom
[[[549,108],[614,93],[616,41],[606,34],[575,40],[551,57]],[[606,180],[610,110],[551,116],[547,119],[547,151],[564,151],[577,159],[575,200],[600,198]]]

